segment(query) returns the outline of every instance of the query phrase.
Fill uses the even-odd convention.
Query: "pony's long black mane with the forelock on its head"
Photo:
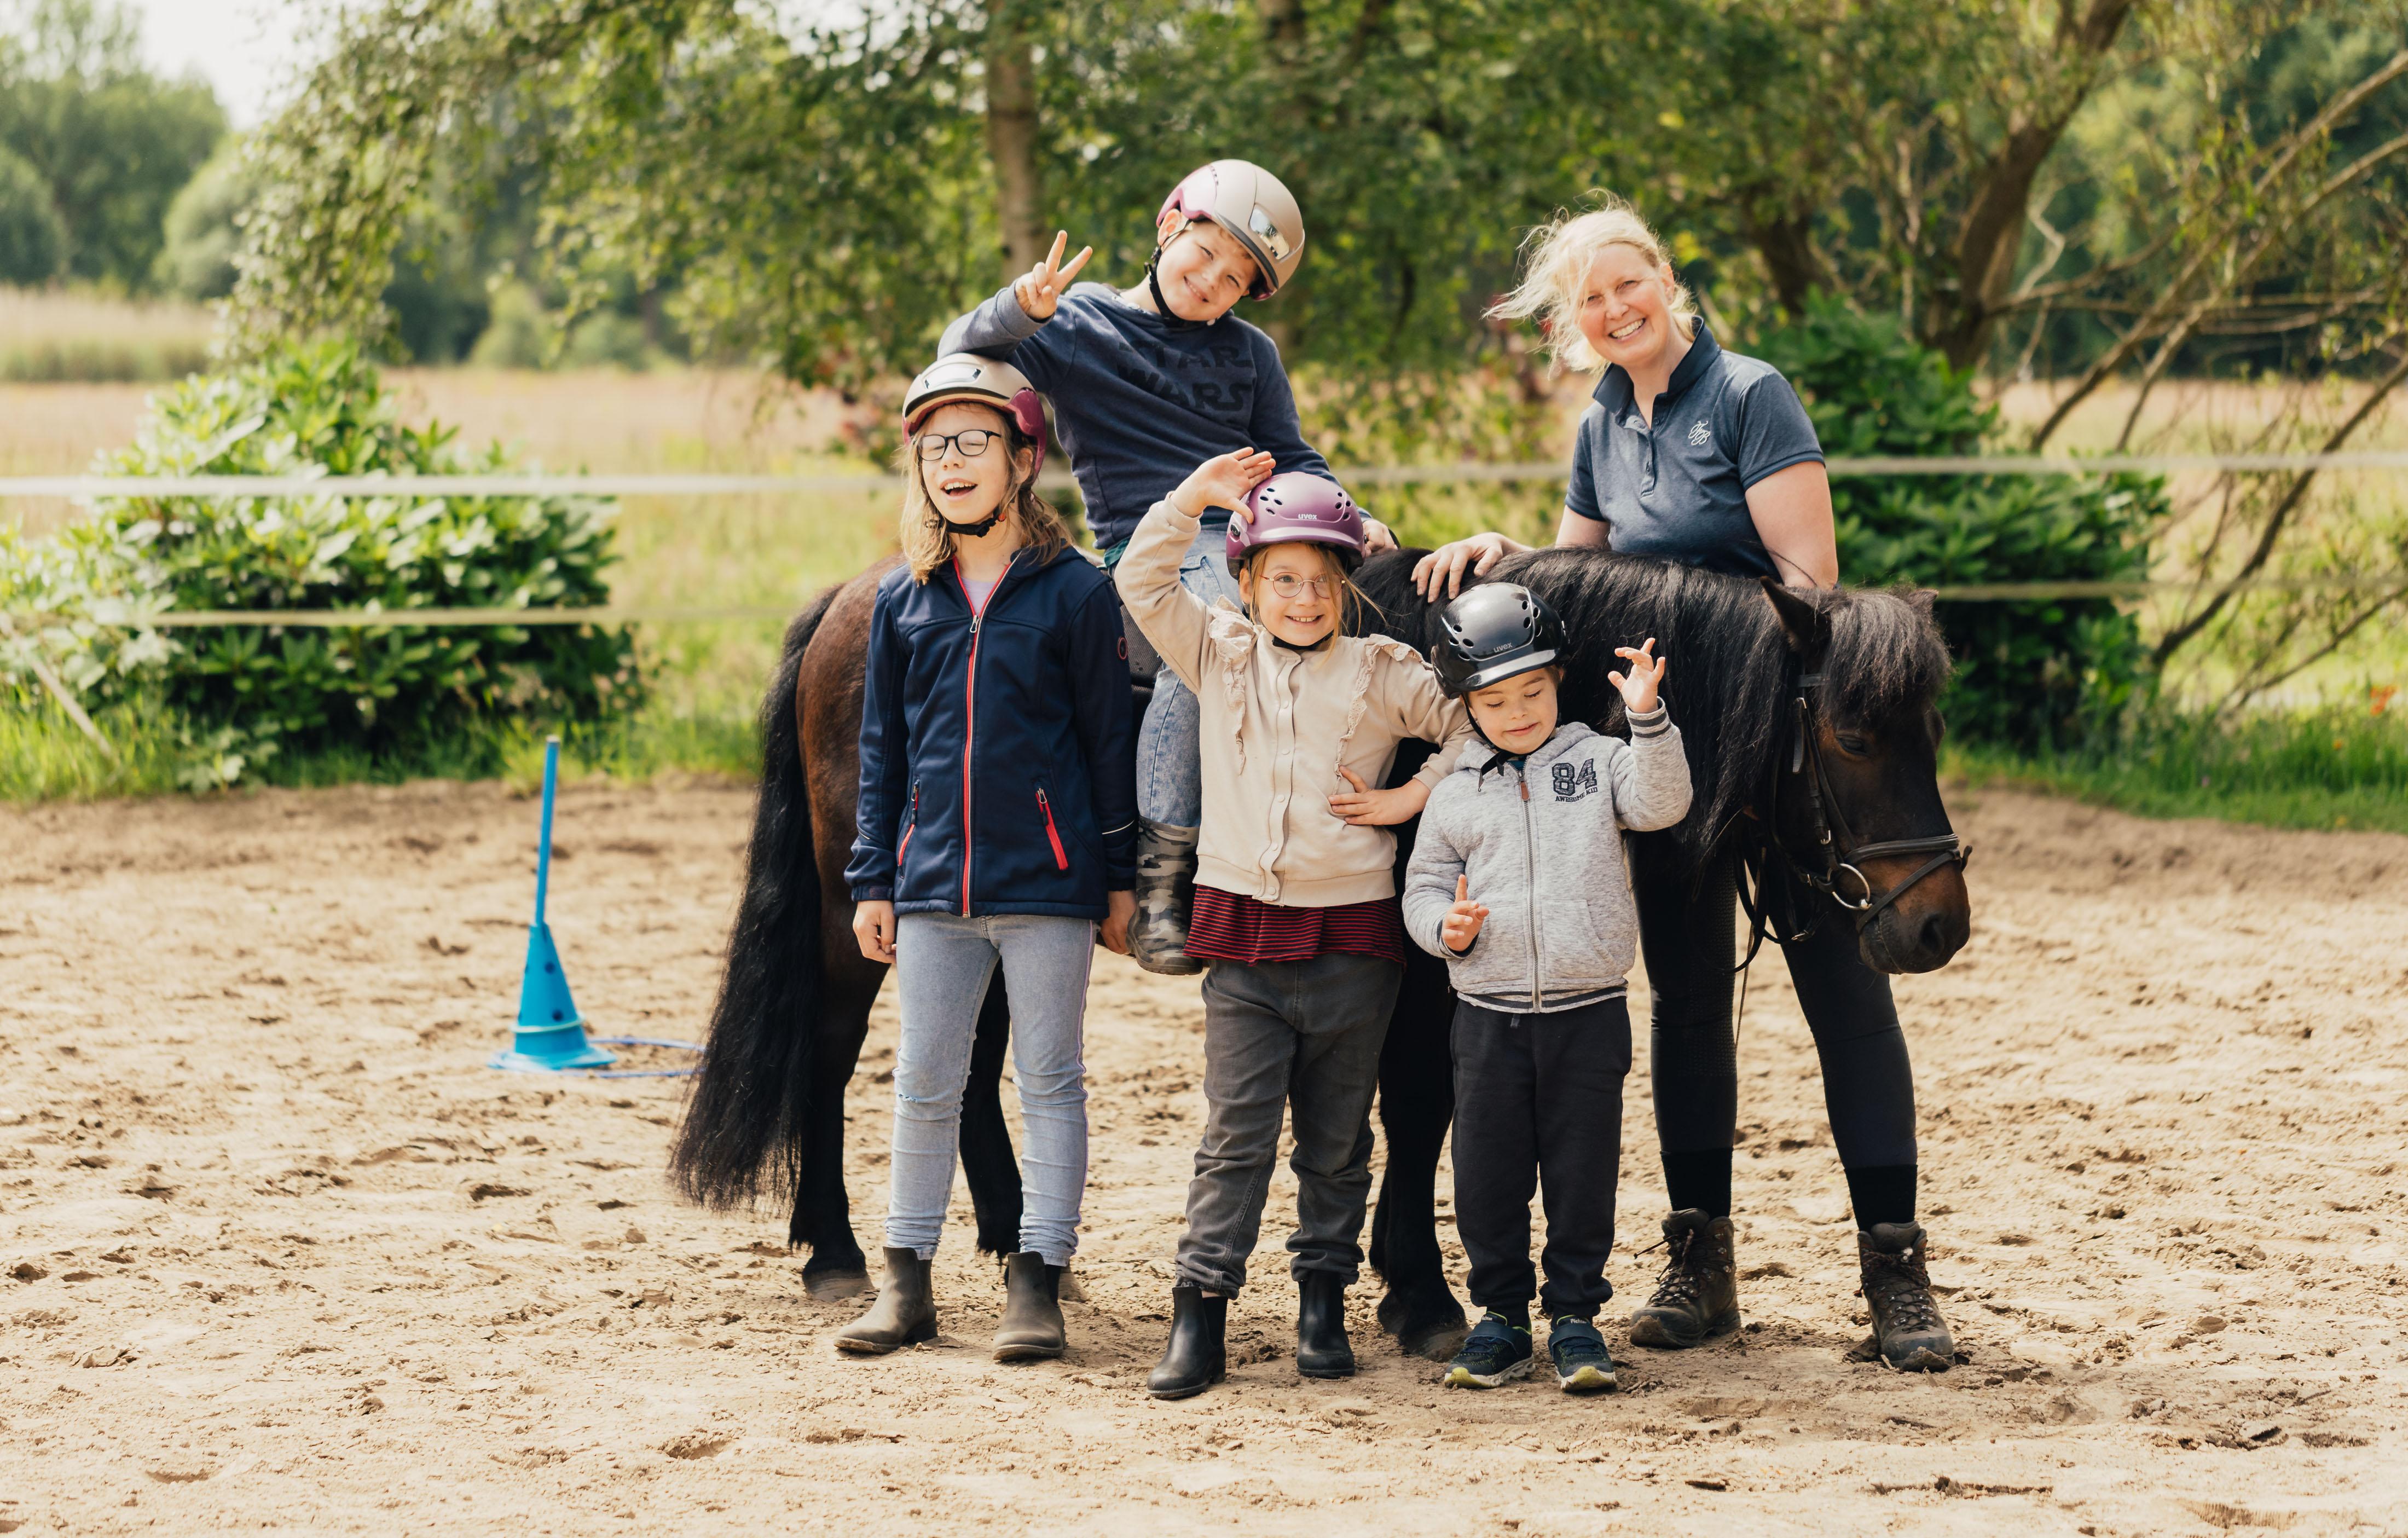
[[[1373,558],[1356,575],[1377,614],[1363,623],[1423,652],[1438,640],[1438,611],[1413,592],[1421,551]],[[1702,859],[1767,782],[1787,749],[1787,700],[1794,652],[1760,582],[1642,556],[1546,549],[1507,556],[1488,580],[1522,582],[1563,616],[1570,635],[1563,679],[1565,720],[1599,732],[1628,732],[1609,672],[1618,645],[1657,638],[1671,659],[1664,703],[1688,749],[1695,801],[1671,830],[1690,859]],[[1948,645],[1926,604],[1902,592],[1799,592],[1823,631],[1820,705],[1832,722],[1878,729],[1922,712],[1948,681]]]

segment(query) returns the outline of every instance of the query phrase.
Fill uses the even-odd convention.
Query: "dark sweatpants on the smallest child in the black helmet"
[[[1471,1302],[1539,1295],[1546,1319],[1594,1319],[1613,1297],[1613,1187],[1623,1172],[1630,1006],[1551,1016],[1454,1006],[1454,1232]],[[1529,1264],[1529,1199],[1546,1194],[1546,1285]]]

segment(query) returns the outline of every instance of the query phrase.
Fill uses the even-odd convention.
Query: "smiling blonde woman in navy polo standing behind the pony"
[[[1556,544],[1613,549],[1792,587],[1840,580],[1823,445],[1777,368],[1724,347],[1674,277],[1664,241],[1621,200],[1563,214],[1529,238],[1522,286],[1491,310],[1539,318],[1558,368],[1594,371]],[[1413,568],[1423,597],[1452,597],[1527,549],[1474,534]],[[1845,749],[1845,744],[1842,744]],[[1731,1228],[1729,852],[1698,871],[1654,869],[1666,852],[1630,845],[1640,943],[1654,1008],[1657,1134],[1671,1215],[1669,1264],[1630,1314],[1635,1345],[1678,1348],[1739,1329]],[[1914,1071],[1890,980],[1845,924],[1782,946],[1823,1059],[1832,1141],[1857,1211],[1857,1256],[1873,1336],[1893,1367],[1946,1370],[1948,1326],[1914,1223]]]

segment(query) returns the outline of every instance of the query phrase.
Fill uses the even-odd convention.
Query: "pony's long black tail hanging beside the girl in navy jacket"
[[[802,652],[836,592],[819,595],[787,626],[778,676],[761,700],[761,799],[744,857],[744,900],[727,936],[703,1061],[669,1146],[677,1191],[708,1208],[792,1199],[809,1155],[804,1117],[826,968],[797,688]]]

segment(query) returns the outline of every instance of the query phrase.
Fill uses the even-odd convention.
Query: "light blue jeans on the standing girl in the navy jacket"
[[[1086,975],[1096,924],[1052,915],[958,917],[908,912],[896,922],[893,1184],[886,1244],[937,1259],[961,1153],[961,1090],[970,1040],[995,968],[1011,994],[1011,1066],[1021,1093],[1021,1249],[1067,1266],[1079,1249],[1086,1191]]]

